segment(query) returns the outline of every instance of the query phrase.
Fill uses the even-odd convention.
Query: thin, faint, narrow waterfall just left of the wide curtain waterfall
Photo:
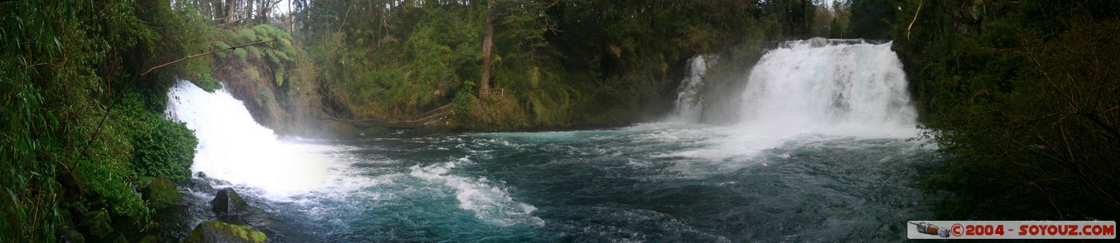
[[[689,59],[689,75],[676,88],[676,116],[674,121],[683,123],[700,123],[703,105],[697,100],[698,90],[703,83],[703,74],[708,71],[708,62],[702,55]]]

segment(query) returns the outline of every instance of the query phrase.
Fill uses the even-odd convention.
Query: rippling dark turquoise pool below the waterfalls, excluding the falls
[[[904,138],[665,123],[298,143],[325,148],[328,186],[235,186],[277,242],[897,241],[941,165]],[[213,189],[186,191],[178,235],[214,217]]]

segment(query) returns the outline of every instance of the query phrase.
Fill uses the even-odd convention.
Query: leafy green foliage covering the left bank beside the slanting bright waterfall
[[[162,118],[166,88],[209,67],[137,75],[206,49],[190,12],[158,0],[0,2],[0,241],[108,241],[108,218],[150,230],[137,181],[185,178],[196,144]]]

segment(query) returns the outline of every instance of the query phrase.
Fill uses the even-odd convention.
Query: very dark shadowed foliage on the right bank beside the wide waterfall
[[[930,186],[958,193],[943,217],[1120,216],[1120,2],[902,3],[894,48],[950,156]]]

